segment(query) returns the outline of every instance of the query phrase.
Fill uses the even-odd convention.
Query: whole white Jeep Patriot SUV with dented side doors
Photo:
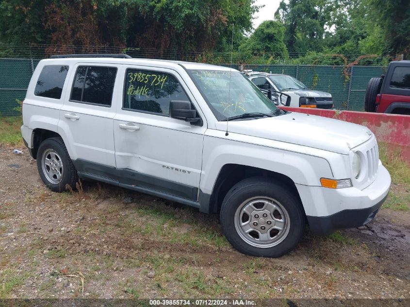
[[[214,65],[53,56],[33,73],[21,132],[52,191],[91,178],[220,212],[254,256],[289,252],[305,223],[329,234],[370,222],[391,182],[366,127],[284,112]]]

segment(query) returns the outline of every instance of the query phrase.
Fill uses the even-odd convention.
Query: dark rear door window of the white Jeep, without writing
[[[116,73],[115,67],[79,66],[70,100],[110,107]]]

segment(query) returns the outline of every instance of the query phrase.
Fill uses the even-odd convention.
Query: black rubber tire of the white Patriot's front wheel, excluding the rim
[[[241,237],[241,231],[235,227],[235,220],[237,219],[235,213],[244,206],[243,204],[246,203],[247,200],[255,198],[255,196],[273,199],[287,210],[290,221],[290,225],[288,226],[289,232],[282,241],[279,242],[278,240],[279,243],[275,246],[253,246]],[[258,197],[256,197],[257,200],[259,199]],[[248,205],[245,205],[245,207],[246,206]],[[253,215],[253,217],[255,216]],[[268,216],[268,219],[269,218],[270,216]],[[235,184],[226,194],[220,212],[222,230],[234,248],[246,255],[269,258],[280,257],[295,248],[303,236],[305,218],[302,204],[294,193],[281,184],[259,177],[247,178]],[[251,225],[250,221],[251,219],[249,219],[249,225]],[[266,224],[268,222],[262,221],[262,224],[263,223]],[[239,226],[239,224],[237,224],[237,226]],[[271,235],[269,235],[269,237],[271,237]]]

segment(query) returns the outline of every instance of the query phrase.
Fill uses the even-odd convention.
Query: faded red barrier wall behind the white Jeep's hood
[[[403,158],[410,163],[410,115],[367,113],[280,107],[283,110],[325,116],[355,123],[369,128],[378,142],[384,142],[389,149],[400,148]]]

